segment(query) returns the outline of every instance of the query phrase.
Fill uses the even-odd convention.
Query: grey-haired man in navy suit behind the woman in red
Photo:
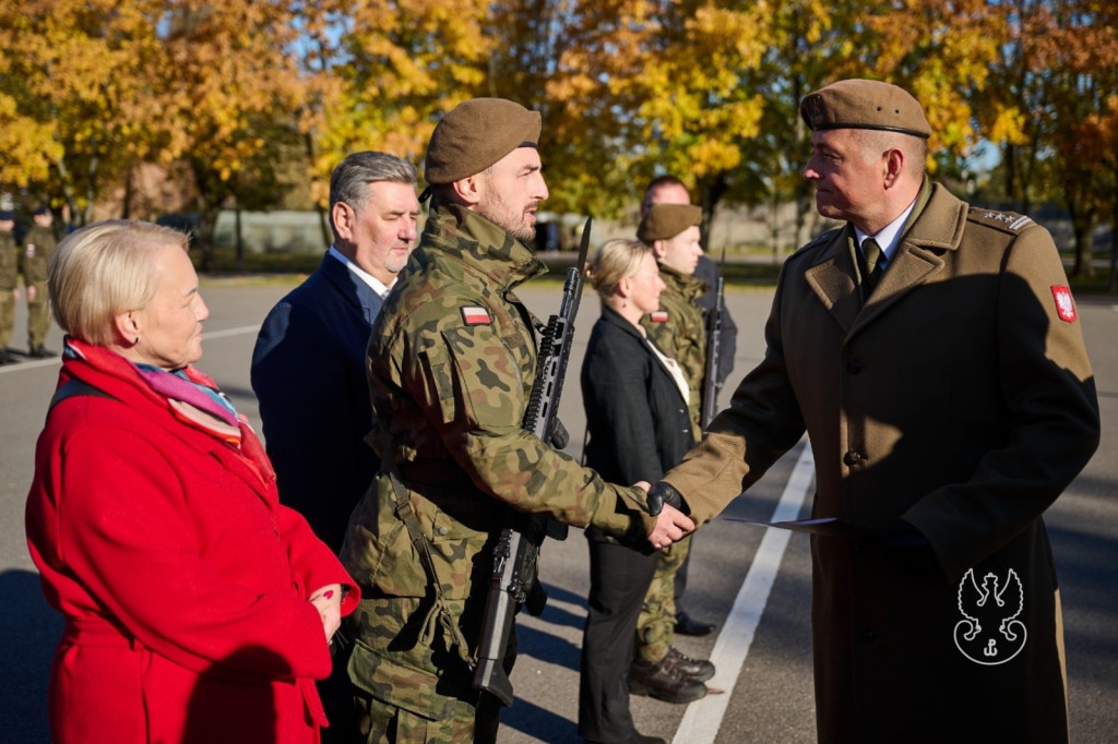
[[[312,274],[272,308],[253,351],[280,498],[341,549],[350,512],[379,462],[371,428],[364,351],[369,331],[415,246],[415,168],[395,155],[359,152],[330,179],[334,242]]]

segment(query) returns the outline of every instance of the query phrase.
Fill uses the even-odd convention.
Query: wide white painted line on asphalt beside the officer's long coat
[[[770,522],[785,522],[799,516],[799,508],[812,488],[814,473],[812,445],[805,442]],[[707,685],[724,690],[724,694],[708,695],[688,705],[683,721],[675,732],[675,738],[672,740],[673,744],[705,744],[713,742],[718,735],[733,687],[749,654],[749,646],[754,642],[754,633],[765,613],[773,582],[780,571],[780,561],[790,535],[792,531],[777,527],[765,531],[757,555],[754,556],[754,563],[749,566],[749,573],[746,574],[738,597],[733,600],[730,616],[726,619],[718,640],[714,641],[714,650],[710,655],[710,660],[714,662],[718,671]]]

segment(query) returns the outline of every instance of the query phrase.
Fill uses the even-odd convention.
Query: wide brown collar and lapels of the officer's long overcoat
[[[853,333],[942,271],[942,255],[959,247],[966,220],[967,204],[942,185],[932,184],[928,206],[901,238],[889,268],[864,305],[858,294],[850,256],[849,241],[854,231],[850,223],[805,247],[808,252],[805,258],[812,265],[804,278],[842,328],[847,334]],[[809,257],[812,252],[815,258]]]

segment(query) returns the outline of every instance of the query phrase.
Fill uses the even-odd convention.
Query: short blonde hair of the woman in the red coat
[[[68,334],[91,344],[113,341],[113,318],[155,296],[154,249],[187,250],[189,237],[153,222],[105,220],[66,236],[50,255],[50,309]]]

